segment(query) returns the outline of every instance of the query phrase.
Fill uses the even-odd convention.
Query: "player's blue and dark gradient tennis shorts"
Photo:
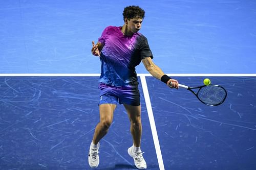
[[[140,105],[140,92],[138,86],[115,87],[100,83],[100,100],[101,104],[127,104],[132,106]]]

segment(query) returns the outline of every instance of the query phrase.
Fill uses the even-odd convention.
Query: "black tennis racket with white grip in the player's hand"
[[[226,97],[227,91],[219,85],[203,85],[198,87],[188,87],[179,84],[179,87],[185,88],[191,91],[197,96],[200,102],[208,106],[218,106],[222,104]],[[192,89],[198,89],[197,92]]]

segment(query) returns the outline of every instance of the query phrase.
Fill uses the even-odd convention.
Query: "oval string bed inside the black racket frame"
[[[218,105],[226,98],[226,91],[220,86],[204,86],[198,91],[198,98],[205,104]]]

